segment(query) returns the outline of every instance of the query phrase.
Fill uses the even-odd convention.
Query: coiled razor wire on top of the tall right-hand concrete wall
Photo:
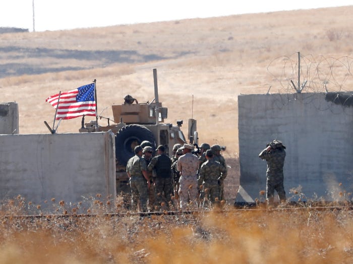
[[[353,86],[352,63],[353,58],[349,56],[326,58],[322,55],[303,56],[298,52],[275,58],[267,67],[274,80],[280,84],[279,97],[274,99],[274,105],[281,109],[290,104],[293,100],[288,96],[290,94],[325,93],[325,99],[331,102],[330,105],[322,104],[314,95],[305,96],[302,104],[313,104],[320,111],[329,110],[334,114],[344,112],[352,115],[349,108],[352,106],[353,94],[347,93],[352,91],[350,86]],[[346,104],[347,102],[349,104]],[[335,107],[337,104],[343,107]]]

